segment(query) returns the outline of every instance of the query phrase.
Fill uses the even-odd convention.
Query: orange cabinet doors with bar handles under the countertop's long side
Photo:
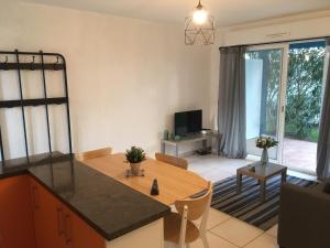
[[[36,248],[105,248],[105,239],[53,196],[44,186],[32,180]]]

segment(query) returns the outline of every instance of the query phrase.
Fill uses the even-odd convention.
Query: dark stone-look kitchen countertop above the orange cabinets
[[[34,157],[37,158],[37,157]],[[170,213],[170,208],[124,184],[56,153],[29,163],[6,163],[0,179],[30,173],[107,240],[112,240]]]

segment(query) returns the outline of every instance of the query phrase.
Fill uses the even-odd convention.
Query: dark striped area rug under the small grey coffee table
[[[277,224],[279,207],[280,176],[267,181],[266,201],[260,202],[257,181],[243,176],[242,193],[237,194],[237,176],[213,184],[211,206],[243,222],[267,230]],[[287,182],[304,187],[312,187],[317,182],[287,176]]]

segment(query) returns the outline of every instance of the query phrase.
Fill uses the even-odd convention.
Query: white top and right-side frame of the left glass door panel
[[[287,74],[288,74],[289,43],[253,45],[246,47],[246,52],[264,51],[264,50],[282,50],[280,84],[279,84],[278,112],[277,112],[278,147],[277,147],[277,160],[276,160],[277,163],[282,163],[284,134],[285,134],[285,107],[286,107],[286,86],[287,86]]]

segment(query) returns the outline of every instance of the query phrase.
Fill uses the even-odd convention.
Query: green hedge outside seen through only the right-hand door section
[[[324,48],[289,51],[285,136],[316,142],[321,110]]]

